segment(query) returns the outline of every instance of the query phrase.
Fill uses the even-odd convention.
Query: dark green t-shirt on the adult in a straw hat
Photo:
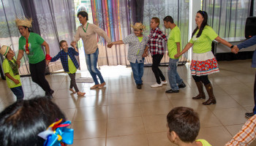
[[[45,42],[39,34],[30,33],[29,34],[29,63],[37,64],[45,59],[45,53],[42,50],[42,43]],[[26,39],[21,36],[19,39],[19,50],[26,52]]]

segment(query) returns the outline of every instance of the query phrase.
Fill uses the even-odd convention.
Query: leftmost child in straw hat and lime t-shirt
[[[20,74],[18,71],[18,64],[16,64],[15,53],[9,46],[3,45],[0,49],[1,55],[4,55],[3,61],[4,74],[6,76],[7,85],[15,94],[17,100],[23,100],[24,93],[20,82]]]

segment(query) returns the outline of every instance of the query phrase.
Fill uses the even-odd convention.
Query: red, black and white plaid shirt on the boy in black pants
[[[165,47],[162,45],[163,39],[165,40],[165,43],[166,43],[167,37],[160,30],[159,27],[155,28],[154,30],[151,29],[150,34],[148,36],[148,45],[147,45],[149,47],[151,55],[165,54]]]

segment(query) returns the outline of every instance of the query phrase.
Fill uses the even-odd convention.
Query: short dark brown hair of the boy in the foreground
[[[200,129],[197,112],[189,107],[176,107],[167,115],[167,124],[182,142],[194,142]]]

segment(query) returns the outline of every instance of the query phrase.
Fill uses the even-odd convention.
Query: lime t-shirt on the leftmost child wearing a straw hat
[[[12,62],[15,63],[16,62],[15,59],[12,59]],[[11,68],[7,58],[4,59],[2,66],[3,66],[3,69],[4,69],[4,74],[9,73],[13,78],[20,81],[20,74],[18,74],[18,75],[13,74],[12,68]],[[18,85],[16,85],[15,82],[10,80],[9,77],[6,77],[6,80],[7,80],[7,85],[8,85],[9,88],[15,88],[15,87],[18,87],[18,86],[21,85],[21,82]]]

